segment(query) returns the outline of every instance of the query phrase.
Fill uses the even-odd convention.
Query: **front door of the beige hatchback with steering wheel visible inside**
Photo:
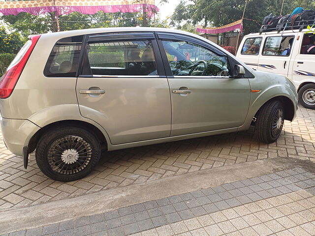
[[[227,56],[187,36],[158,37],[169,75],[171,136],[241,126],[249,109],[250,83],[231,76]]]

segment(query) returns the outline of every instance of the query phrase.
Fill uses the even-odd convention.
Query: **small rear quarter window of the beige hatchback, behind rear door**
[[[59,40],[47,60],[46,77],[76,77],[83,35]]]

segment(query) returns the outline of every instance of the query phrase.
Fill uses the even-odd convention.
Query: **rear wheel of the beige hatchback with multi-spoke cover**
[[[99,141],[89,131],[75,126],[55,127],[40,137],[35,157],[47,177],[73,181],[94,170],[100,152]]]

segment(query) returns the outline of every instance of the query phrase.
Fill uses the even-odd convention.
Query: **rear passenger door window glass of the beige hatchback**
[[[92,75],[158,75],[151,40],[88,43],[85,64]]]

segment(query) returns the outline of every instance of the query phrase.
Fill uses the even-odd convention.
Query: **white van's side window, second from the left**
[[[294,36],[267,37],[262,55],[287,57],[291,53],[293,40]]]

